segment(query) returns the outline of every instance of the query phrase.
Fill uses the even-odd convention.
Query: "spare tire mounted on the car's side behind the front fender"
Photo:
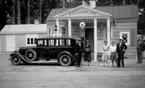
[[[25,58],[28,62],[35,61],[37,58],[37,53],[32,49],[28,49],[25,52]]]

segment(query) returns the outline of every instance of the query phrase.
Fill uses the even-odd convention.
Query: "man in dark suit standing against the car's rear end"
[[[75,50],[76,50],[76,66],[80,67],[81,59],[82,59],[82,46],[81,46],[81,39],[80,38],[77,40]]]

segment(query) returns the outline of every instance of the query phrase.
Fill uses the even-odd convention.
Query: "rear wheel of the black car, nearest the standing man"
[[[72,64],[72,59],[69,55],[63,54],[59,57],[59,64],[62,66],[70,66]]]

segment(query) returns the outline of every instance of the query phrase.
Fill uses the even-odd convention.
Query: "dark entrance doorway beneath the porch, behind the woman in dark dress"
[[[88,39],[91,44],[91,52],[94,53],[94,29],[85,28],[85,39]]]

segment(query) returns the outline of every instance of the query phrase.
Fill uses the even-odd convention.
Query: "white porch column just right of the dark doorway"
[[[97,19],[94,18],[94,61],[97,61]]]

